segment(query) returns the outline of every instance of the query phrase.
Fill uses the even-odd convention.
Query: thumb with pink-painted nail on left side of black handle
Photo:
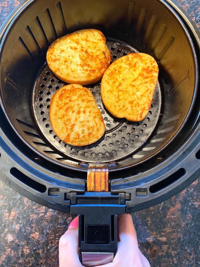
[[[59,240],[59,267],[82,267],[78,257],[78,217]]]

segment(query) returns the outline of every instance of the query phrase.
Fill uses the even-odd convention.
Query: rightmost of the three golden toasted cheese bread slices
[[[151,107],[158,80],[158,65],[144,53],[131,53],[114,61],[103,74],[101,97],[117,118],[141,121]]]

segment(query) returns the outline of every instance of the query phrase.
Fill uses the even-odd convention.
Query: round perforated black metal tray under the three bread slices
[[[128,53],[138,51],[130,45],[117,40],[107,38],[106,42],[111,52],[112,61]],[[85,146],[76,147],[63,143],[53,132],[49,120],[50,100],[53,94],[66,85],[51,72],[45,64],[34,85],[32,105],[36,125],[46,142],[52,147],[52,153],[56,150],[61,157],[71,158],[76,161],[86,162],[111,162],[130,157],[141,149],[143,144],[154,133],[161,113],[161,90],[157,83],[152,105],[146,118],[140,122],[131,122],[126,119],[118,119],[112,116],[105,108],[101,100],[101,81],[86,85],[92,92],[98,108],[102,113],[106,131],[97,142]],[[51,151],[49,151],[51,153]]]

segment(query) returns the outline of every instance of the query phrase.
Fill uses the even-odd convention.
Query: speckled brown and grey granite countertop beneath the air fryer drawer
[[[21,0],[0,0],[0,26]],[[200,30],[199,0],[177,0]],[[200,266],[200,179],[175,197],[132,214],[152,267]],[[0,182],[0,266],[58,267],[58,242],[74,214],[41,206]]]

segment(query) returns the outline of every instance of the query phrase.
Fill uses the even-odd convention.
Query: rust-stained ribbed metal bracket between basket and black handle
[[[87,192],[108,192],[107,164],[89,164],[87,170]]]

